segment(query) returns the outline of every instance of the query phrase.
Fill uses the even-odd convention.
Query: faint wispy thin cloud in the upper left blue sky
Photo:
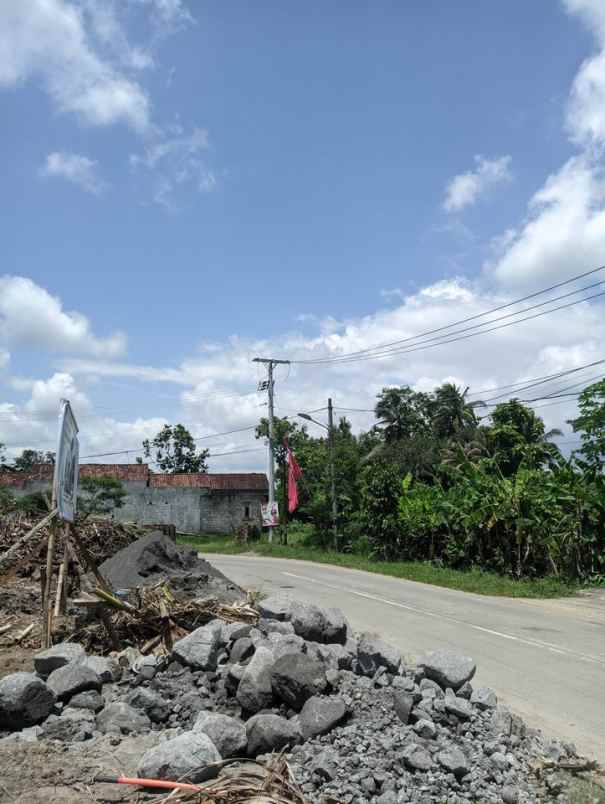
[[[174,209],[173,194],[178,187],[192,187],[201,193],[215,189],[216,177],[202,156],[208,148],[205,129],[185,134],[176,126],[169,135],[149,143],[142,154],[131,154],[130,165],[150,175],[154,202]]]

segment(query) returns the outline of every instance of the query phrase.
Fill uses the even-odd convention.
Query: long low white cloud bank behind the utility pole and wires
[[[291,359],[339,356],[443,327],[454,318],[475,315],[504,304],[510,298],[507,293],[495,292],[483,284],[447,280],[405,296],[395,307],[379,309],[362,318],[308,322],[306,329],[311,328],[310,334],[284,332],[264,340],[234,336],[222,343],[214,342],[211,350],[198,350],[174,367],[137,366],[107,360],[99,363],[70,361],[74,371],[66,371],[66,364],[61,373],[50,378],[22,381],[20,387],[28,392],[28,401],[12,407],[11,403],[5,403],[0,410],[0,441],[15,448],[51,449],[55,424],[50,412],[55,410],[60,396],[77,400],[83,455],[140,449],[143,438],[154,435],[166,421],[183,422],[194,436],[250,427],[267,411],[266,394],[256,392],[258,380],[264,377],[262,367],[252,362],[257,355]],[[337,406],[336,415],[347,415],[357,431],[373,424],[372,413],[345,412],[339,408],[371,409],[376,394],[384,386],[410,384],[417,389],[430,390],[453,379],[460,385],[469,385],[475,392],[574,368],[605,354],[604,313],[603,305],[586,305],[469,340],[395,354],[388,359],[331,366],[280,367],[276,412],[295,415],[301,410],[313,410],[331,396]],[[76,383],[78,364],[88,383],[86,394]],[[95,407],[97,385],[91,383],[95,366],[96,376],[103,378],[98,383],[103,389],[103,405],[111,404],[111,410],[121,414],[123,411],[121,419],[100,415],[100,411],[107,408]],[[579,374],[577,379],[588,379],[596,371],[598,369]],[[106,378],[112,376],[130,378],[130,387],[118,386],[111,391]],[[574,381],[575,377],[567,382]],[[170,387],[156,390],[150,385],[153,381],[173,383],[176,387],[174,391]],[[138,386],[140,392],[139,382],[144,383]],[[554,390],[553,386],[548,390]],[[112,396],[108,400],[110,391]],[[543,392],[539,387],[532,391],[536,396]],[[140,413],[141,400],[145,401],[145,416]],[[554,401],[556,405],[547,402],[547,407],[537,408],[537,412],[544,416],[548,427],[562,424],[565,427],[565,420],[573,415],[574,401],[565,400],[564,404],[559,404],[561,400]],[[322,414],[318,416],[321,418]],[[45,424],[41,425],[40,419]],[[218,445],[214,446],[215,452],[262,447],[255,440],[253,429],[199,442],[200,447],[215,444]],[[134,455],[99,460],[132,461]],[[211,471],[217,472],[263,471],[264,468],[262,451],[217,456],[210,461]]]

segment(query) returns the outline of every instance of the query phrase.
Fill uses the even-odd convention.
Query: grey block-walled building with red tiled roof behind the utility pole
[[[39,464],[28,474],[4,472],[0,486],[17,495],[46,489],[53,467]],[[117,477],[127,491],[116,519],[144,525],[175,525],[181,533],[230,533],[244,523],[260,525],[260,506],[269,485],[261,473],[164,475],[147,464],[87,463],[80,477]]]

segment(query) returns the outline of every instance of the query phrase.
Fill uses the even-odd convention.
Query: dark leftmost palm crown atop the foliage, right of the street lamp
[[[374,408],[384,440],[389,443],[413,438],[430,429],[430,396],[404,386],[383,388]]]

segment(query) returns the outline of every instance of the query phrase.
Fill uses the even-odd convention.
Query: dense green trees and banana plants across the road
[[[518,400],[480,419],[452,384],[432,394],[384,389],[376,426],[335,428],[339,547],[385,560],[480,567],[517,578],[605,577],[605,381],[586,389],[571,424],[582,448],[564,458]],[[327,438],[275,420],[303,469],[295,518],[330,541]],[[263,420],[257,435],[266,436]],[[285,502],[285,451],[278,452]],[[284,506],[282,506],[284,507]]]

